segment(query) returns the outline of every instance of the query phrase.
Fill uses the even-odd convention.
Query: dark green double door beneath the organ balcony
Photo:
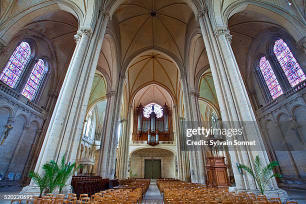
[[[144,177],[161,178],[161,160],[144,159]]]

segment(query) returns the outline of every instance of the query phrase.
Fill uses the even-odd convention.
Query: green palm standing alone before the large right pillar
[[[252,170],[251,167],[244,164],[239,164],[237,167],[238,169],[242,168],[246,170],[249,174],[253,176],[255,182],[259,186],[260,193],[263,194],[265,185],[272,177],[277,177],[277,178],[283,177],[279,173],[273,173],[273,168],[278,165],[279,165],[278,161],[272,161],[262,168],[260,165],[259,155],[257,155],[254,159],[254,170]]]

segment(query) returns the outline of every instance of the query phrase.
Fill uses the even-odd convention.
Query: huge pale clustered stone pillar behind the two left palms
[[[62,88],[46,132],[35,171],[42,173],[42,165],[49,160],[60,160],[65,154],[66,161],[74,162],[82,124],[92,85],[92,80],[101,49],[109,13],[100,11],[96,25],[81,28],[74,36],[76,46],[71,58]],[[66,183],[70,184],[70,179]],[[37,193],[38,186],[31,183],[22,193]]]

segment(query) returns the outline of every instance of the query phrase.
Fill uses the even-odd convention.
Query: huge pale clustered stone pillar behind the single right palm
[[[223,124],[224,121],[227,121],[231,128],[242,128],[243,139],[248,141],[254,140],[257,144],[256,149],[247,146],[246,150],[243,151],[238,147],[229,151],[236,189],[256,190],[258,187],[253,177],[249,173],[240,174],[235,163],[238,162],[253,167],[253,159],[256,155],[259,155],[261,158],[263,166],[269,161],[254,112],[230,46],[231,35],[229,35],[226,27],[216,27],[214,31],[212,30],[207,8],[197,12],[196,20],[200,24]],[[233,138],[228,137],[228,139]],[[277,189],[274,178],[268,182],[267,188],[271,189],[268,190],[268,195],[286,196],[286,193]]]

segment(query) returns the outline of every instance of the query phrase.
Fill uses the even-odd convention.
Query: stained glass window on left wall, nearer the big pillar
[[[39,84],[44,75],[44,62],[42,59],[38,59],[35,63],[27,82],[21,92],[22,95],[32,100],[35,96],[36,91],[38,90]]]

